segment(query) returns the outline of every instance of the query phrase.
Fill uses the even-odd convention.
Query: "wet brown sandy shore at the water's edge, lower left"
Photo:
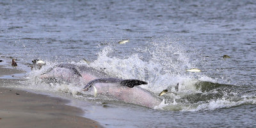
[[[0,67],[0,76],[22,73],[15,68]],[[68,100],[8,88],[20,79],[0,79],[1,127],[102,127],[84,118],[81,109],[67,106]],[[7,88],[6,88],[7,86]]]

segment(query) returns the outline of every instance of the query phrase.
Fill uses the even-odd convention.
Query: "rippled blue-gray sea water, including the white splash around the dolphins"
[[[255,10],[253,0],[2,0],[0,60],[16,58],[27,71],[14,77],[28,81],[16,88],[68,93],[85,117],[106,127],[256,127]],[[141,87],[156,95],[177,83],[179,90],[155,109],[112,100],[102,108],[102,99],[77,96],[72,84],[38,83],[40,71],[26,65],[83,58],[112,76],[147,81]]]

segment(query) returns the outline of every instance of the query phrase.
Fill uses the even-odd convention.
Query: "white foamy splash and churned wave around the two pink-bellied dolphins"
[[[133,49],[134,50],[134,49]],[[106,46],[98,53],[97,60],[91,63],[83,61],[71,64],[87,65],[110,76],[122,79],[140,79],[147,81],[147,85],[141,85],[154,95],[168,89],[163,97],[163,102],[154,109],[169,111],[204,111],[220,108],[229,108],[241,104],[255,104],[255,95],[237,100],[237,94],[232,86],[218,84],[218,79],[213,79],[205,74],[186,72],[188,68],[195,68],[195,60],[191,60],[191,53],[184,50],[184,45],[175,42],[149,42],[147,47],[134,50],[131,56],[115,56],[115,46]],[[28,81],[33,84],[30,88],[70,93],[73,97],[85,100],[93,99],[86,93],[81,93],[83,86],[75,83],[44,83],[38,79],[47,68],[59,63],[47,62],[42,70],[34,70],[29,73]],[[27,81],[27,82],[28,82]],[[176,84],[179,83],[177,89]],[[78,93],[80,92],[80,93]],[[108,100],[109,97],[106,97]],[[94,98],[94,100],[102,100]]]

